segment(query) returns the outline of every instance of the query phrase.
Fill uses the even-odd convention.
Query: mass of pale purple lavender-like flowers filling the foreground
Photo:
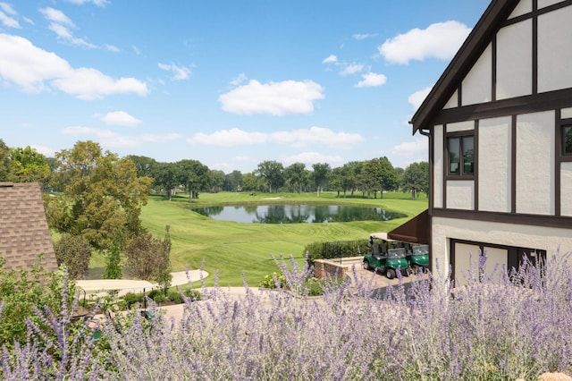
[[[0,354],[3,379],[534,380],[572,372],[571,254],[555,253],[501,278],[470,276],[462,289],[418,277],[374,290],[357,274],[321,299],[248,291],[239,301],[203,288],[180,322],[157,314],[108,319],[95,342],[70,311],[29,328]],[[311,269],[279,263],[290,289]],[[483,263],[484,266],[484,263]],[[290,270],[289,270],[290,269]],[[374,276],[374,275],[373,275]],[[503,279],[499,284],[493,279]]]

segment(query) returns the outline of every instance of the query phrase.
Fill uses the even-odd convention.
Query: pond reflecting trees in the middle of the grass
[[[248,224],[301,224],[350,221],[389,221],[406,217],[381,207],[348,205],[243,205],[197,207],[193,211],[215,220]]]

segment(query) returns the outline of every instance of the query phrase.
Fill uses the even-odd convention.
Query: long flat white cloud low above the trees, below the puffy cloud
[[[236,147],[256,144],[275,143],[299,148],[307,145],[322,145],[330,148],[351,148],[362,141],[364,137],[358,133],[335,132],[323,127],[311,127],[293,131],[248,132],[234,128],[231,130],[214,131],[211,134],[196,133],[188,139],[189,144]]]

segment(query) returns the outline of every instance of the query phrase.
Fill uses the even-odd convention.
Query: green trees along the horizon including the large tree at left
[[[187,192],[197,199],[199,192],[309,192],[319,196],[324,190],[338,197],[383,198],[388,190],[410,191],[413,198],[428,191],[429,166],[413,163],[395,168],[387,157],[349,162],[331,168],[316,163],[312,170],[303,163],[284,167],[266,160],[248,174],[211,170],[195,159],[174,163],[157,162],[152,157],[127,156],[103,151],[98,143],[78,141],[71,149],[45,157],[34,148],[9,148],[0,140],[0,182],[39,182],[44,190],[46,217],[51,229],[63,234],[63,244],[55,245],[59,263],[73,267],[77,278],[88,271],[89,252],[99,250],[107,261],[105,276],[122,276],[122,263],[141,278],[168,279],[170,268],[168,226],[163,241],[154,239],[142,227],[141,207],[151,192]],[[72,241],[76,240],[76,241]],[[86,246],[88,245],[88,246]],[[75,258],[65,248],[85,253]],[[162,253],[153,256],[153,252]],[[121,260],[121,253],[126,260]],[[148,257],[140,261],[142,256]],[[152,267],[149,261],[163,258]],[[145,262],[145,263],[144,263]],[[150,272],[149,268],[156,269]]]

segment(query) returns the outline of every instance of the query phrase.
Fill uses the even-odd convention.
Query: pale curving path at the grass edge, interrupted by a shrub
[[[197,282],[200,279],[206,278],[208,273],[204,270],[189,270],[179,271],[172,274],[171,285],[183,285],[189,282]],[[119,290],[119,295],[124,295],[127,292],[147,292],[151,291],[157,284],[147,281],[136,281],[130,279],[95,279],[95,280],[80,280],[76,282],[77,286],[89,295],[105,295],[107,290]]]

